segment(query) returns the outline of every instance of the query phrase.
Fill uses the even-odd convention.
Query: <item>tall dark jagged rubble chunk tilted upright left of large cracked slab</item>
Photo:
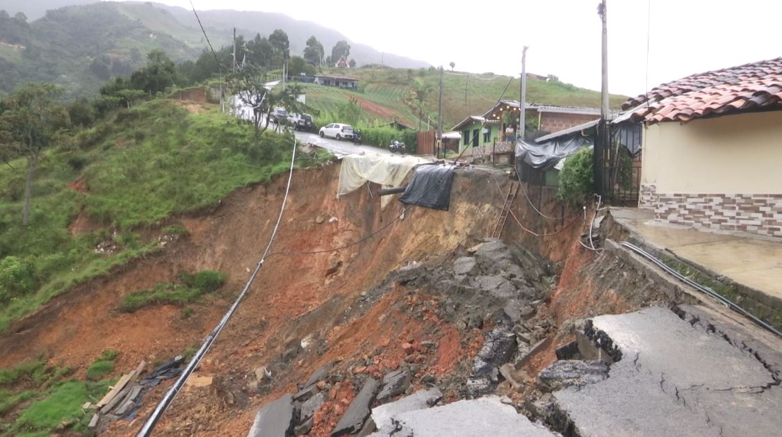
[[[467,380],[469,396],[476,398],[494,391],[499,382],[499,367],[510,360],[515,348],[516,336],[505,324],[497,325],[486,335]]]

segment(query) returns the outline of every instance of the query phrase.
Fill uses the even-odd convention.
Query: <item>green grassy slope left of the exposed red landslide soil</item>
[[[25,163],[0,167],[0,284],[20,284],[10,296],[0,292],[0,331],[74,285],[160,249],[134,227],[213,206],[287,170],[292,138],[266,132],[256,146],[251,127],[204,108],[190,113],[156,100],[63,135],[39,163],[27,227]],[[74,181],[78,191],[68,186]],[[101,225],[71,235],[80,213]],[[99,253],[99,244],[113,249]]]

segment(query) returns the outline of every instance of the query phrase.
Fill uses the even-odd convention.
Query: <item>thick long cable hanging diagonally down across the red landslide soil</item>
[[[280,227],[280,221],[282,220],[282,213],[285,212],[285,204],[288,202],[288,195],[290,192],[291,181],[293,178],[293,163],[295,160],[296,160],[296,138],[293,138],[293,152],[291,155],[291,167],[288,174],[288,184],[285,187],[285,197],[282,198],[282,206],[280,207],[280,213],[277,217],[277,223],[274,224],[274,229],[271,231],[271,237],[269,238],[269,243],[266,245],[264,254],[260,257],[260,260],[256,264],[255,270],[253,270],[253,274],[250,275],[246,285],[244,286],[244,288],[242,288],[242,292],[239,293],[239,296],[237,296],[237,298],[234,300],[234,303],[231,305],[231,307],[228,308],[228,311],[224,314],[223,318],[217,324],[217,326],[214,327],[210,335],[206,336],[203,343],[201,344],[201,347],[198,349],[195,355],[193,355],[187,367],[185,367],[185,370],[182,371],[177,381],[174,382],[174,385],[171,385],[170,389],[168,389],[166,394],[163,395],[163,399],[160,399],[160,402],[157,403],[155,410],[152,411],[152,414],[150,414],[147,421],[145,421],[144,426],[138,432],[138,434],[136,434],[136,437],[147,437],[152,433],[152,430],[155,428],[157,421],[160,420],[160,417],[163,416],[163,413],[165,413],[166,409],[170,406],[171,402],[174,401],[174,398],[178,395],[179,391],[185,385],[185,381],[187,381],[187,379],[190,377],[192,372],[195,370],[195,367],[198,366],[203,356],[205,356],[206,353],[209,351],[209,348],[217,339],[217,335],[220,335],[221,331],[225,327],[225,324],[228,323],[228,320],[231,319],[231,317],[234,315],[235,310],[239,307],[239,303],[242,302],[242,299],[244,299],[244,297],[247,295],[247,292],[249,292],[249,288],[251,285],[253,285],[253,281],[255,281],[256,275],[258,274],[260,267],[263,267],[264,265],[264,261],[267,258],[269,249],[271,249],[271,244],[272,242],[274,242],[274,237],[277,235],[277,230]]]

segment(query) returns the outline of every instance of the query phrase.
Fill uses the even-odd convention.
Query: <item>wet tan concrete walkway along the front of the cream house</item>
[[[632,211],[612,209],[611,214],[620,223],[630,225],[642,238],[669,249],[676,256],[782,299],[782,242],[745,234],[666,226]]]

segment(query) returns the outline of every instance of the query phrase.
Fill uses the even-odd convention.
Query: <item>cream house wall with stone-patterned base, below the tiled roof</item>
[[[655,219],[782,237],[782,111],[644,129],[639,206]]]

